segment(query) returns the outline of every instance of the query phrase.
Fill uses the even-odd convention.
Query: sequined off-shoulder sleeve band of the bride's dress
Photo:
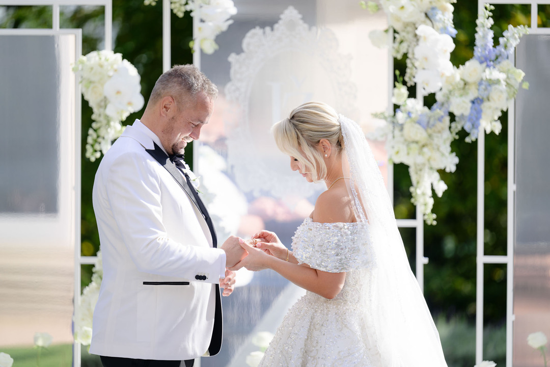
[[[292,249],[299,264],[332,273],[368,267],[366,223],[317,223],[306,220],[294,234]]]

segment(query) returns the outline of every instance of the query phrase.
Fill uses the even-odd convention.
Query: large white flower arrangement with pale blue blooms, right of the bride
[[[401,51],[409,53],[405,80],[414,80],[423,94],[435,93],[437,103],[428,109],[416,99],[408,98],[397,73],[392,102],[398,108],[394,114],[375,114],[388,124],[373,138],[386,139],[390,161],[409,166],[411,201],[420,206],[427,224],[436,224],[432,190],[441,197],[447,189],[437,171],[454,172],[458,163],[450,143],[458,138],[461,129],[470,134],[466,141],[475,140],[479,129],[487,134],[500,132],[502,126],[498,118],[515,98],[525,75],[514,67],[509,57],[527,29],[509,26],[500,37],[499,45],[494,47],[493,7],[487,4],[476,22],[474,57],[456,68],[450,63],[450,52],[454,50],[451,36],[456,32],[452,28],[450,3],[441,1],[434,6],[432,1],[411,1],[397,8],[395,1],[382,1],[389,12],[390,26],[399,32],[393,45],[394,56],[403,56]],[[425,3],[432,5],[428,10],[431,15],[422,13],[426,10]],[[426,17],[432,20],[433,26],[426,24]],[[435,18],[439,20],[433,21]],[[371,39],[375,37],[379,36],[373,35]],[[401,51],[396,56],[395,50],[399,47]],[[524,83],[523,87],[528,85]]]

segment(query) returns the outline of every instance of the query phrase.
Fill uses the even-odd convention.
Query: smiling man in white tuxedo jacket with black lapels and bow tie
[[[94,182],[103,280],[90,353],[103,366],[193,366],[222,342],[226,270],[246,253],[216,232],[181,160],[212,114],[216,86],[193,65],[158,78],[140,120],[105,154]],[[219,283],[219,285],[218,285]],[[183,364],[182,364],[183,365]]]

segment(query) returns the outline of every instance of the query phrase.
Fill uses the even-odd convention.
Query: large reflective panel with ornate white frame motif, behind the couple
[[[239,13],[217,37],[219,50],[201,55],[201,69],[217,84],[219,97],[210,123],[201,131],[201,144],[194,147],[194,167],[201,189],[208,190],[209,211],[224,218],[216,226],[225,232],[218,238],[246,238],[265,228],[290,247],[296,227],[326,187],[307,184],[290,170],[290,158],[279,152],[270,128],[301,103],[321,100],[357,120],[365,132],[372,130],[371,113],[387,105],[388,59],[387,50],[371,46],[364,35],[386,28],[386,18],[356,2],[234,3]],[[312,26],[320,29],[310,31]],[[385,174],[383,145],[371,147]],[[238,277],[240,287],[223,298],[224,348],[215,357],[203,358],[202,367],[246,365],[246,356],[259,349],[251,344],[251,336],[274,332],[303,294],[271,271],[245,271]]]

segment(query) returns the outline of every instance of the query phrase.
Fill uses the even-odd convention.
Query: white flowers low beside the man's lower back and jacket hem
[[[97,260],[92,269],[92,281],[80,295],[78,313],[73,315],[74,339],[76,342],[89,346],[92,341],[92,316],[100,295],[100,286],[103,279],[103,264],[101,250],[97,251]]]

